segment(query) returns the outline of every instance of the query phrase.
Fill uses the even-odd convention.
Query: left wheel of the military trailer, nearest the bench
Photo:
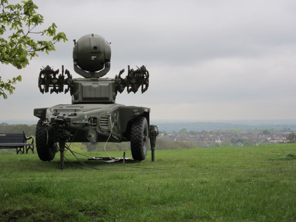
[[[54,141],[51,138],[48,138],[45,130],[45,125],[42,124],[42,120],[39,119],[36,125],[36,149],[38,157],[42,161],[53,160],[55,156],[54,151]]]

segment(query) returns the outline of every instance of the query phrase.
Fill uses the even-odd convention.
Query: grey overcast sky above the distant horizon
[[[118,94],[116,103],[151,108],[152,120],[296,119],[296,1],[35,0],[69,41],[17,70],[0,64],[3,80],[22,75],[0,120],[36,120],[33,109],[70,104],[68,94],[42,94],[42,66],[73,75],[73,39],[95,33],[111,42],[114,78],[146,65],[147,92]],[[126,73],[124,73],[126,74]]]

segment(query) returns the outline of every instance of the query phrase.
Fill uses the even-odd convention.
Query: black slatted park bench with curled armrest
[[[27,140],[32,139],[31,143],[28,143]],[[27,138],[25,131],[22,133],[0,133],[0,149],[17,149],[17,154],[19,152],[24,153],[24,148],[26,153],[31,149],[34,153],[34,139],[32,136]]]

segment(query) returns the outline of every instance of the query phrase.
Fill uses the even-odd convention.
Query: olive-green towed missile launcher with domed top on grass
[[[131,142],[134,160],[144,160],[150,138],[154,161],[157,127],[150,124],[150,108],[124,106],[115,103],[124,89],[136,93],[147,91],[149,72],[144,65],[133,70],[128,66],[115,78],[102,78],[110,70],[111,48],[102,36],[89,34],[74,41],[73,67],[83,78],[72,78],[69,70],[62,73],[49,65],[39,73],[38,87],[44,94],[69,92],[72,104],[36,108],[36,149],[40,160],[50,161],[59,151],[64,168],[66,142]],[[65,89],[64,89],[65,88]],[[57,145],[59,144],[59,146]]]

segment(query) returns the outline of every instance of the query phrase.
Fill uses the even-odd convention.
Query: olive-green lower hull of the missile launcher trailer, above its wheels
[[[34,109],[34,116],[48,127],[48,137],[66,142],[123,142],[131,140],[133,119],[145,117],[150,108],[120,104],[60,104]],[[149,133],[148,133],[149,135]]]

